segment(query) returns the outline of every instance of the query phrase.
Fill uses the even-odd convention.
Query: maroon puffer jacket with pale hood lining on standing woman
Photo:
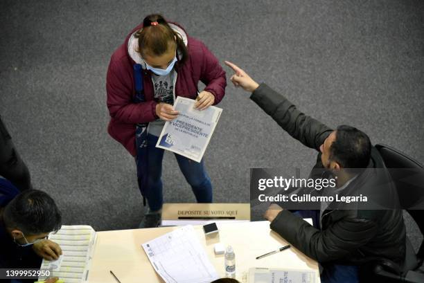
[[[225,72],[211,51],[197,39],[188,37],[185,30],[177,24],[172,24],[183,35],[188,58],[184,64],[175,64],[177,82],[175,83],[175,95],[186,98],[196,98],[197,83],[202,81],[206,84],[205,91],[213,93],[215,104],[218,104],[225,93],[227,80]],[[128,41],[132,34],[139,30],[139,25],[127,36],[125,42],[113,53],[107,69],[106,91],[107,108],[111,116],[107,131],[112,138],[121,143],[132,156],[136,155],[135,125],[137,123],[152,122],[157,118],[154,102],[154,90],[151,72],[143,66],[143,87],[145,102],[133,103],[135,95],[133,65],[137,59],[134,54],[128,52]]]

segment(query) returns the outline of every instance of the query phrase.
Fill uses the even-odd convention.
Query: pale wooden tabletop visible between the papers
[[[215,255],[213,245],[221,242],[233,246],[236,253],[236,279],[247,282],[251,267],[304,268],[316,272],[317,262],[303,255],[296,248],[284,250],[262,259],[256,259],[271,250],[288,244],[270,230],[270,222],[220,223],[219,235],[204,235],[202,226],[194,226],[200,243],[204,246],[216,271],[224,277],[224,255]],[[90,283],[117,283],[109,273],[114,272],[121,283],[163,282],[155,273],[141,244],[166,234],[178,227],[116,230],[98,232],[93,259],[89,271]]]

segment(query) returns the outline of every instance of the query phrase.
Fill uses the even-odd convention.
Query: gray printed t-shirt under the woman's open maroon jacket
[[[154,100],[157,102],[164,102],[174,104],[174,79],[177,73],[170,71],[168,75],[155,75],[152,74],[152,82],[154,87]],[[154,120],[149,123],[148,133],[153,136],[159,136],[165,121],[161,119]]]

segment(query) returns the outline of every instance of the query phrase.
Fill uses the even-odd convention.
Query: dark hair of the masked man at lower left
[[[62,214],[55,201],[39,190],[26,190],[4,208],[3,221],[25,235],[57,231],[62,226]]]

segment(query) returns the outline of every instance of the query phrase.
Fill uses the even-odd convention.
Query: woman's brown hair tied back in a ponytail
[[[152,24],[157,22],[157,24]],[[184,64],[187,59],[188,51],[182,36],[179,35],[168,22],[158,14],[148,15],[143,19],[143,28],[137,31],[135,37],[139,39],[138,53],[144,55],[161,56],[170,46],[176,47],[182,53],[179,58],[180,64]],[[176,46],[175,46],[176,44]]]

